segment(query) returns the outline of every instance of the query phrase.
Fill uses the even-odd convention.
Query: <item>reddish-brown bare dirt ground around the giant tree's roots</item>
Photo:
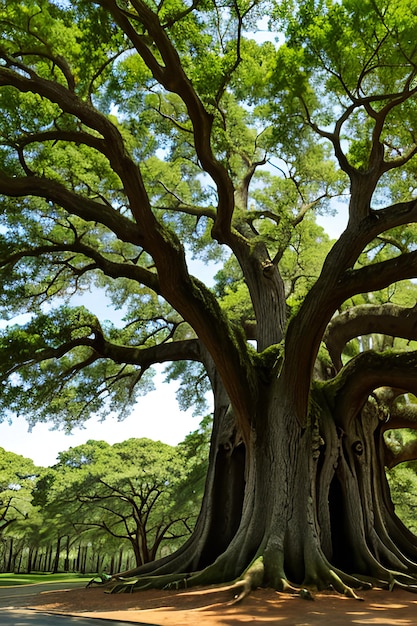
[[[333,593],[317,593],[314,601],[308,601],[258,589],[235,605],[230,605],[230,593],[210,588],[110,595],[100,588],[74,589],[41,593],[31,598],[29,606],[48,612],[158,626],[417,624],[417,596],[406,591],[366,591],[359,602]]]

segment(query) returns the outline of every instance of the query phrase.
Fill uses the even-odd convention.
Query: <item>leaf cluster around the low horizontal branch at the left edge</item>
[[[92,344],[97,332],[97,319],[82,307],[49,311],[2,331],[3,415],[23,413],[30,421],[52,420],[67,430],[91,414],[115,411],[122,419],[137,397],[136,370],[98,359]],[[145,375],[142,391],[151,378]]]

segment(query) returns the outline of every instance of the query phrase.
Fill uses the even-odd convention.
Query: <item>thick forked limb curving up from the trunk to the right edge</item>
[[[380,233],[396,226],[417,221],[417,200],[398,203],[373,211],[362,221],[350,221],[324,261],[322,272],[310,289],[298,314],[291,320],[286,334],[286,352],[292,358],[285,363],[284,374],[289,381],[299,380],[299,360],[309,355],[306,370],[313,371],[317,352],[334,312],[350,297],[382,289],[390,283],[417,276],[417,253],[375,263],[358,270],[352,269],[365,247]],[[294,358],[298,351],[299,356]],[[307,388],[308,387],[308,388]],[[310,379],[305,379],[304,393],[301,384],[294,402],[301,414],[308,401]],[[302,399],[301,399],[302,398]]]

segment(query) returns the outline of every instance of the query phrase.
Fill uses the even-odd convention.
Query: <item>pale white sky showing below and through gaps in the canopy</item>
[[[338,237],[346,223],[346,207],[343,205],[334,217],[319,217],[317,221],[326,229],[330,237]],[[200,261],[193,261],[191,271],[207,283],[213,277],[213,269],[209,270]],[[78,304],[94,312],[95,307],[102,307],[103,303],[95,295],[86,294],[80,297]],[[90,306],[92,305],[92,306]],[[102,311],[101,311],[102,312]],[[106,315],[112,318],[112,312]],[[0,328],[4,323],[0,320]],[[192,410],[180,411],[175,397],[178,383],[164,382],[163,366],[157,370],[154,384],[155,391],[139,398],[130,417],[119,422],[116,417],[109,417],[104,422],[91,418],[83,429],[76,428],[71,434],[59,430],[51,430],[47,424],[37,424],[31,432],[23,417],[15,417],[12,423],[0,423],[0,447],[9,452],[21,454],[32,459],[36,465],[47,467],[57,462],[59,452],[70,447],[78,446],[89,439],[103,439],[110,444],[135,437],[148,437],[155,441],[162,441],[176,445],[199,426],[198,416],[193,417]],[[203,416],[201,416],[203,417]]]

